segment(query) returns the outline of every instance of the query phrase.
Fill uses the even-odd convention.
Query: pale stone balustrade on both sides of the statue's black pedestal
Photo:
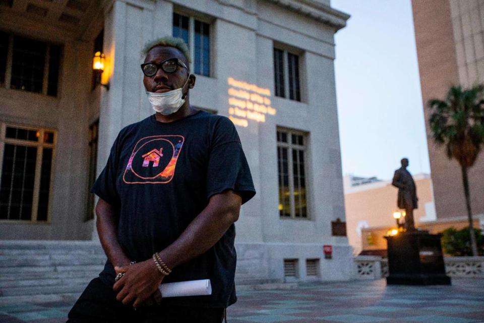
[[[444,257],[449,277],[484,278],[484,257]],[[380,279],[388,276],[388,259],[380,256],[354,257],[354,278]]]

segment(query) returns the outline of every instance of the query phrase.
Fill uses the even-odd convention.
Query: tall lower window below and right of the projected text
[[[308,218],[306,198],[306,141],[300,131],[277,130],[279,216]]]

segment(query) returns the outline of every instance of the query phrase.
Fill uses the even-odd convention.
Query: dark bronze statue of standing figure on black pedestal
[[[405,210],[405,230],[415,230],[413,222],[413,209],[418,208],[417,189],[412,175],[407,171],[408,159],[401,160],[402,167],[395,171],[392,185],[398,187],[398,208]]]

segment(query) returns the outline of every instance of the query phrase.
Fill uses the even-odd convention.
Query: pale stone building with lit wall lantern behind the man
[[[238,275],[349,279],[332,230],[345,221],[334,34],[349,16],[329,0],[0,6],[1,239],[95,236],[88,189],[118,131],[153,114],[141,48],[174,35],[190,47],[191,103],[233,121],[258,192],[236,223]]]

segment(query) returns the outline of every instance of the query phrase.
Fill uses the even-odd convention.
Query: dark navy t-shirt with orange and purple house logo
[[[247,159],[233,123],[204,111],[170,123],[155,115],[121,130],[92,192],[118,214],[119,244],[131,260],[143,261],[175,241],[225,190],[255,195]],[[164,283],[210,279],[212,295],[173,297],[164,304],[226,307],[236,301],[235,227],[204,254],[173,268]],[[114,283],[107,261],[101,280]]]

